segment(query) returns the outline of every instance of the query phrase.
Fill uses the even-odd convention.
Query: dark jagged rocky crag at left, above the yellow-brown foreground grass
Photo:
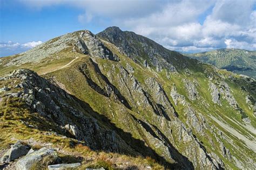
[[[16,87],[21,93],[19,98],[25,101],[31,110],[53,122],[59,132],[84,141],[93,150],[129,152],[129,146],[116,132],[99,126],[95,118],[85,116],[90,115],[86,110],[77,109],[67,103],[66,100],[73,103],[78,101],[54,83],[28,69],[16,70],[6,79],[22,80]]]

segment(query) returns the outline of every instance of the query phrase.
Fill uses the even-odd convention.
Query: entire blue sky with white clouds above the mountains
[[[166,48],[256,50],[256,1],[0,0],[0,56],[77,30],[134,31]]]

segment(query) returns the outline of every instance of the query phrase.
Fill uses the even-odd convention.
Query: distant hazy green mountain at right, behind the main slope
[[[233,73],[244,74],[256,79],[256,51],[232,48],[185,55],[204,63],[210,63],[220,69],[226,69]]]

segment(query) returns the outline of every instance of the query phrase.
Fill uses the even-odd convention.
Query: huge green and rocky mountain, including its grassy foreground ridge
[[[17,140],[35,150],[3,167],[57,160],[82,162],[82,169],[256,165],[255,80],[136,33],[68,33],[1,58],[0,76],[2,163]],[[31,165],[48,148],[51,157]]]

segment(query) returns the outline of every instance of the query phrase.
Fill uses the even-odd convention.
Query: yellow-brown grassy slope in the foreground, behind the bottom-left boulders
[[[2,81],[0,87],[10,84],[9,81],[13,82],[14,80]],[[16,84],[18,83],[16,81]],[[15,84],[12,85],[15,86]],[[15,90],[12,88],[10,92],[15,92]],[[1,97],[3,96],[1,95]],[[16,143],[16,140],[23,140],[25,143],[30,143],[34,150],[45,145],[49,146],[49,144],[53,148],[58,148],[57,153],[63,164],[79,161],[82,162],[80,169],[101,167],[114,169],[116,165],[126,168],[143,169],[146,166],[151,166],[153,169],[164,169],[150,157],[132,157],[126,154],[92,151],[81,141],[69,137],[64,138],[54,123],[29,110],[20,98],[2,98],[0,102],[0,129],[0,150],[9,148],[11,144]],[[52,133],[52,131],[60,135]]]

